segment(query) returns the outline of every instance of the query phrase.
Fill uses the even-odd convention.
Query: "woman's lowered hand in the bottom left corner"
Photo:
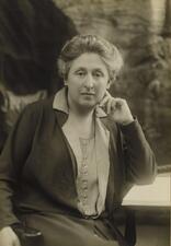
[[[21,246],[19,237],[10,226],[0,231],[0,245],[3,246]]]

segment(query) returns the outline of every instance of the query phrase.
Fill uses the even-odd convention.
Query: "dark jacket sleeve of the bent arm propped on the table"
[[[124,163],[127,181],[136,185],[150,184],[157,174],[157,164],[137,119],[121,127]]]

